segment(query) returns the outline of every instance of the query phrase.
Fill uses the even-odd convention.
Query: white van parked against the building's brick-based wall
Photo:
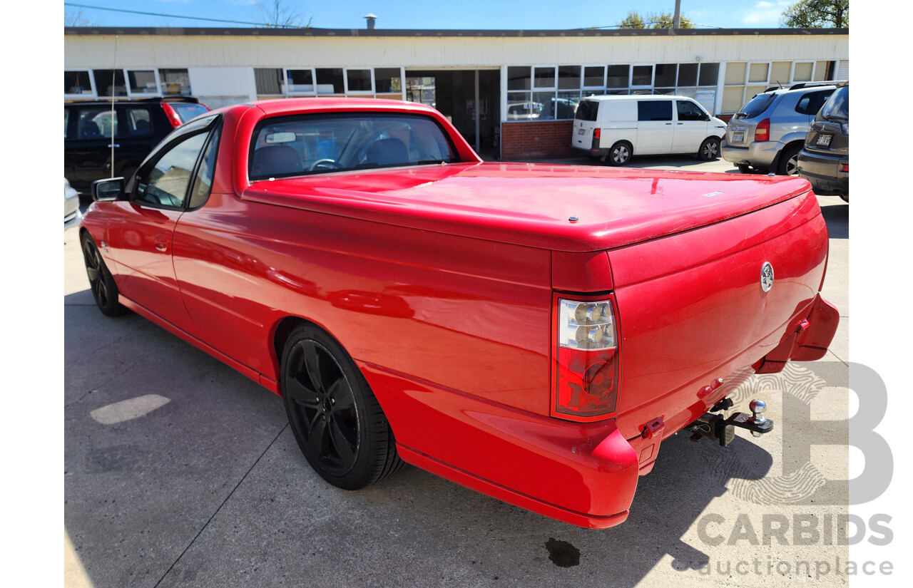
[[[632,155],[695,153],[719,156],[726,123],[711,117],[693,98],[634,95],[583,98],[573,120],[571,147],[609,165]]]

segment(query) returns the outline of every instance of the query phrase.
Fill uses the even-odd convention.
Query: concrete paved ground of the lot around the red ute
[[[690,158],[632,167],[736,172]],[[330,486],[279,397],[140,316],[101,315],[78,230],[66,230],[65,585],[847,583],[848,205],[819,202],[831,237],[824,297],[841,315],[827,356],[739,388],[736,409],[767,401],[770,434],[740,431],[725,449],[667,439],[628,520],[603,531],[412,466],[366,490]]]

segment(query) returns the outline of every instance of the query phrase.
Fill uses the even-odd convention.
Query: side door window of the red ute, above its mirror
[[[146,168],[137,177],[132,200],[154,206],[184,206],[187,187],[207,136],[205,132],[192,135],[160,154],[152,168]]]

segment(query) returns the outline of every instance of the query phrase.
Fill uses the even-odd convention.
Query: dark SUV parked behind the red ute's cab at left
[[[76,190],[88,192],[102,178],[130,178],[165,135],[209,108],[178,97],[117,100],[113,110],[110,100],[63,105],[63,174]]]

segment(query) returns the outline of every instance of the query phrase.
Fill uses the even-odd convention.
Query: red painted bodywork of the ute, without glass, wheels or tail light
[[[433,117],[463,161],[247,181],[260,119],[338,109]],[[277,391],[278,326],[320,325],[362,369],[404,459],[501,500],[582,526],[624,521],[661,438],[791,337],[785,358],[813,358],[834,335],[806,181],[484,164],[436,110],[396,102],[222,113],[205,206],[97,202],[85,215],[123,302]],[[550,416],[556,293],[614,294],[617,418]],[[728,384],[709,387],[717,378]],[[639,437],[656,418],[656,437]]]

